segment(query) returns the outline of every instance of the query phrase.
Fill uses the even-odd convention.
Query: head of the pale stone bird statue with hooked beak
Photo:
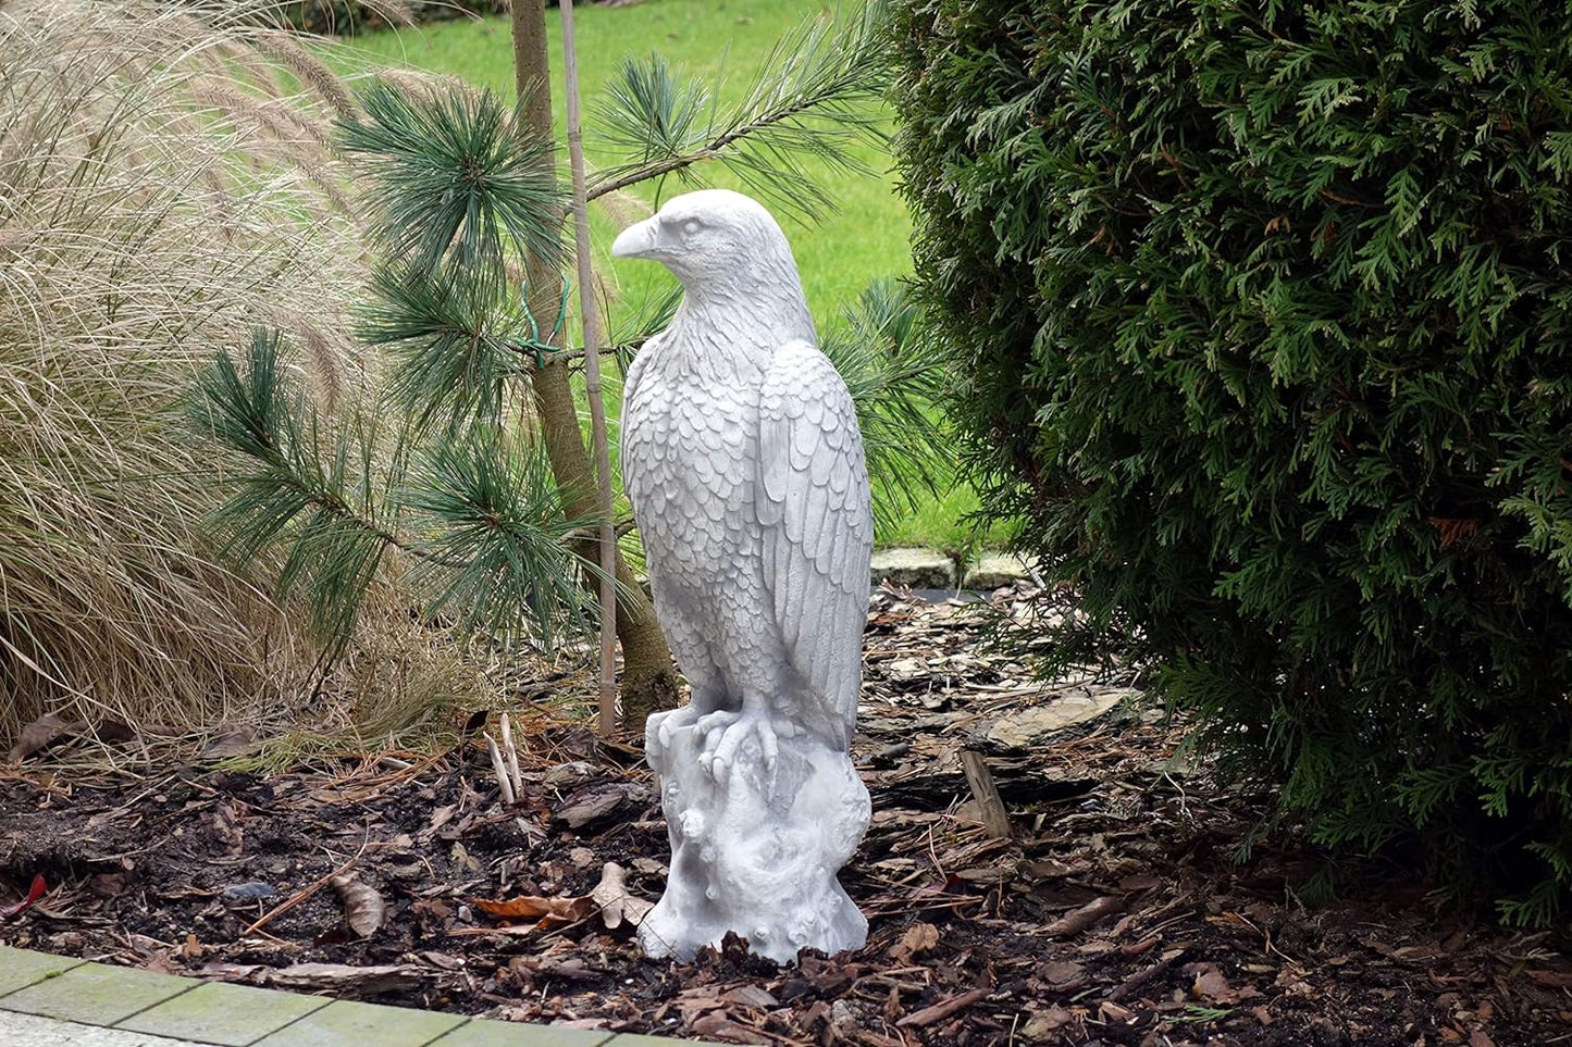
[[[623,230],[612,255],[659,261],[689,291],[780,280],[800,288],[781,226],[758,201],[729,189],[668,200],[654,217]]]

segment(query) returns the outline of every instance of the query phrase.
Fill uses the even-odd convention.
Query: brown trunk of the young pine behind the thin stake
[[[536,134],[552,138],[555,132],[550,61],[545,50],[545,0],[512,0],[512,68],[519,96],[525,99],[523,115],[528,126]],[[530,310],[541,318],[544,330],[547,318],[555,319],[552,310],[561,302],[563,275],[555,266],[542,266],[530,256],[525,259],[525,280],[530,289]],[[567,366],[552,363],[539,368],[531,384],[545,456],[552,462],[556,486],[566,497],[567,511],[577,517],[593,517],[597,514],[594,470],[590,467],[590,453],[578,429],[578,410],[567,380]],[[580,550],[580,555],[590,561],[596,560],[594,539],[586,539],[586,549]],[[629,733],[643,737],[645,718],[651,712],[676,704],[678,678],[671,667],[671,649],[656,619],[656,608],[634,580],[634,572],[621,553],[616,557],[616,580],[624,590],[616,615],[616,638],[623,645],[619,689],[623,723]]]

